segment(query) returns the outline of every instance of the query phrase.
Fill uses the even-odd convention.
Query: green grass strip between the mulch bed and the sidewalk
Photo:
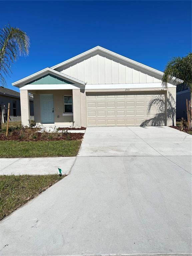
[[[76,156],[80,140],[60,141],[0,141],[0,157]]]

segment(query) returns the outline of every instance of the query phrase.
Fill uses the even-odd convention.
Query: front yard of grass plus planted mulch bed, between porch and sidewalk
[[[47,132],[39,128],[10,123],[8,137],[6,125],[0,132],[0,157],[56,157],[76,156],[84,133],[68,131]]]

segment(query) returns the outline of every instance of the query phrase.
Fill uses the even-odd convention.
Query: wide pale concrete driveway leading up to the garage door
[[[0,254],[190,254],[191,138],[88,128],[71,174],[0,222]]]

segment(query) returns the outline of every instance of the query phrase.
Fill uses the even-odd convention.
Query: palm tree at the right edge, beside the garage
[[[183,80],[183,87],[190,89],[190,128],[192,128],[192,53],[185,57],[174,57],[166,65],[162,78],[162,86],[167,89],[167,83]]]

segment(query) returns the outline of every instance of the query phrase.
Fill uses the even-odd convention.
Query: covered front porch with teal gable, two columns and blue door
[[[20,89],[23,126],[29,126],[29,93],[33,95],[36,125],[82,126],[81,91],[85,89],[85,82],[45,68],[13,85]]]

